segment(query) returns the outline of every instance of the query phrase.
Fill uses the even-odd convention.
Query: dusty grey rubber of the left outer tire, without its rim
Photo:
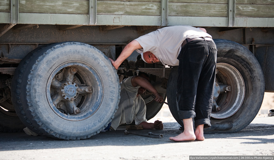
[[[56,115],[47,100],[48,78],[54,69],[68,61],[81,61],[92,65],[101,74],[105,90],[98,110],[81,121],[68,121]],[[56,44],[39,55],[30,71],[29,80],[25,82],[27,116],[34,120],[39,117],[33,124],[43,134],[61,139],[84,139],[100,132],[113,118],[119,102],[118,75],[109,59],[95,47],[79,42]],[[111,88],[110,92],[107,92],[108,88]]]

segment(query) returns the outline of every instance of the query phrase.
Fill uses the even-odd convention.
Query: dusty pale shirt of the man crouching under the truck
[[[133,120],[135,120],[136,125],[147,121],[146,104],[140,95],[137,96],[140,86],[133,87],[131,78],[126,78],[120,83],[121,99],[118,104],[118,110],[111,121],[111,127],[114,130],[121,124],[131,124]]]

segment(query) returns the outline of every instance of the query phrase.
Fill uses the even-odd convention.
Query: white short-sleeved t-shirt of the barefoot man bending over
[[[177,59],[182,43],[187,38],[210,37],[206,32],[192,26],[169,26],[135,39],[143,47],[138,53],[150,51],[163,65],[178,66]]]

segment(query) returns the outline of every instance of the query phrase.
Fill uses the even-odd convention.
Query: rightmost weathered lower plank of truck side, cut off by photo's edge
[[[274,17],[274,5],[237,4],[235,17]]]

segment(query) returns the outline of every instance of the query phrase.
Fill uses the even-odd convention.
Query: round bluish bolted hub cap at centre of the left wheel
[[[61,94],[64,99],[68,101],[73,101],[79,95],[80,88],[74,82],[66,82],[62,85]]]

